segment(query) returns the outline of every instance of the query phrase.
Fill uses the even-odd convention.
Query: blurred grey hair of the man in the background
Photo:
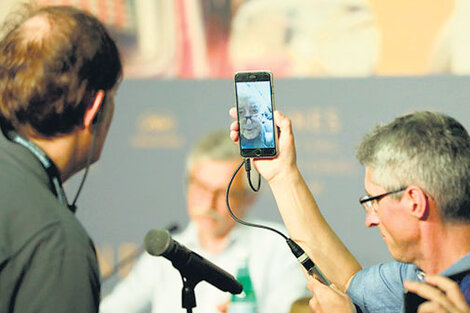
[[[189,174],[195,164],[202,161],[240,160],[238,145],[230,139],[226,129],[212,131],[192,147],[186,159],[186,173]]]

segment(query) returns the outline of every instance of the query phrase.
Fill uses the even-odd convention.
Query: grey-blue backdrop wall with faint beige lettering
[[[376,123],[413,110],[445,112],[469,128],[468,86],[470,77],[458,76],[275,80],[276,107],[294,121],[302,173],[363,266],[390,256],[378,231],[364,227],[358,203],[364,174],[355,146]],[[99,250],[103,273],[134,249],[129,243],[140,245],[148,230],[186,225],[185,155],[207,131],[228,132],[234,100],[231,80],[122,83],[102,158],[78,200],[78,217]],[[78,174],[66,184],[69,201],[80,179]],[[252,216],[280,221],[266,183]],[[104,293],[117,277],[104,284]]]

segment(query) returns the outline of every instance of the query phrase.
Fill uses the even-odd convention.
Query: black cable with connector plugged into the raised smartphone
[[[322,273],[322,271],[318,268],[318,266],[316,266],[316,264],[313,263],[313,261],[307,255],[307,253],[305,253],[305,251],[295,241],[293,241],[292,239],[290,239],[289,237],[287,237],[286,235],[284,235],[282,232],[280,232],[279,230],[277,230],[275,228],[272,228],[272,227],[269,227],[269,226],[266,226],[266,225],[246,222],[246,221],[238,218],[237,216],[235,216],[235,214],[232,212],[232,209],[230,208],[230,201],[229,201],[230,187],[232,186],[233,180],[235,179],[235,177],[237,176],[238,172],[240,171],[240,169],[243,165],[245,165],[245,170],[246,170],[246,174],[247,174],[247,177],[248,177],[248,183],[250,184],[251,189],[254,192],[258,192],[260,190],[260,187],[261,187],[261,174],[258,173],[258,186],[257,186],[257,188],[255,188],[253,186],[252,182],[251,182],[251,175],[250,175],[250,173],[251,173],[251,164],[250,163],[251,162],[250,162],[249,158],[243,159],[243,161],[240,163],[238,168],[235,170],[235,172],[233,173],[233,175],[230,178],[230,181],[228,183],[227,191],[225,192],[225,202],[226,202],[227,210],[228,210],[230,216],[239,224],[246,225],[246,226],[251,226],[251,227],[262,228],[262,229],[267,229],[267,230],[270,230],[270,231],[275,232],[276,234],[280,235],[282,238],[284,238],[284,240],[286,241],[286,243],[289,246],[290,250],[292,251],[292,253],[296,257],[297,261],[299,261],[299,263],[305,268],[305,270],[308,272],[308,274],[311,275],[311,276],[314,276],[320,282],[322,282],[323,284],[329,286],[330,281],[326,278],[326,276]]]

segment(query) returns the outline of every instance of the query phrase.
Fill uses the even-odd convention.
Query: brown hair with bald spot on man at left
[[[98,90],[122,76],[117,47],[92,15],[67,6],[27,6],[0,41],[0,115],[41,137],[83,124]]]

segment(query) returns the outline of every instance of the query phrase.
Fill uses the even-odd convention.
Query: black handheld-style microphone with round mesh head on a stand
[[[232,294],[239,294],[243,290],[242,284],[231,274],[173,240],[165,229],[152,229],[147,233],[145,250],[153,256],[163,256],[170,260],[183,277],[194,280],[195,284],[205,280]]]

